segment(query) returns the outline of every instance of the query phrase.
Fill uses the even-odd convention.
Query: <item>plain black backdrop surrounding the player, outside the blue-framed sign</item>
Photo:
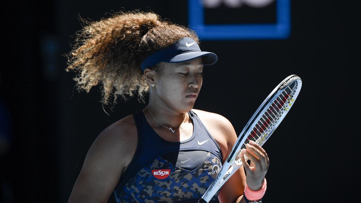
[[[264,202],[361,201],[360,20],[354,2],[292,1],[288,39],[201,41],[201,49],[219,60],[205,67],[194,108],[225,116],[237,133],[282,79],[297,74],[303,80],[296,105],[264,145],[271,163]],[[145,107],[135,96],[119,100],[113,111],[105,108],[108,116],[99,87],[89,94],[73,88],[75,73],[65,72],[64,55],[70,36],[81,29],[78,14],[100,20],[112,10],[151,9],[188,25],[188,2],[8,3],[1,12],[0,100],[9,110],[11,143],[1,155],[0,198],[67,202],[97,135]],[[114,193],[108,202],[115,202]]]

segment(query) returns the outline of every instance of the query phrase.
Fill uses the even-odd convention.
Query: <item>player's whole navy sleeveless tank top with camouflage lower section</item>
[[[186,203],[202,197],[222,167],[222,152],[197,114],[188,114],[193,134],[182,142],[161,138],[142,111],[133,115],[138,146],[114,189],[118,203]]]

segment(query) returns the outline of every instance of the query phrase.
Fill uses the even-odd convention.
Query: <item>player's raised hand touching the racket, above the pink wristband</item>
[[[270,160],[268,159],[266,151],[253,141],[246,144],[246,149],[243,149],[239,154],[247,173],[246,183],[249,189],[257,191],[261,189],[263,185]],[[251,165],[247,163],[243,155],[246,155],[248,159],[251,160]]]

